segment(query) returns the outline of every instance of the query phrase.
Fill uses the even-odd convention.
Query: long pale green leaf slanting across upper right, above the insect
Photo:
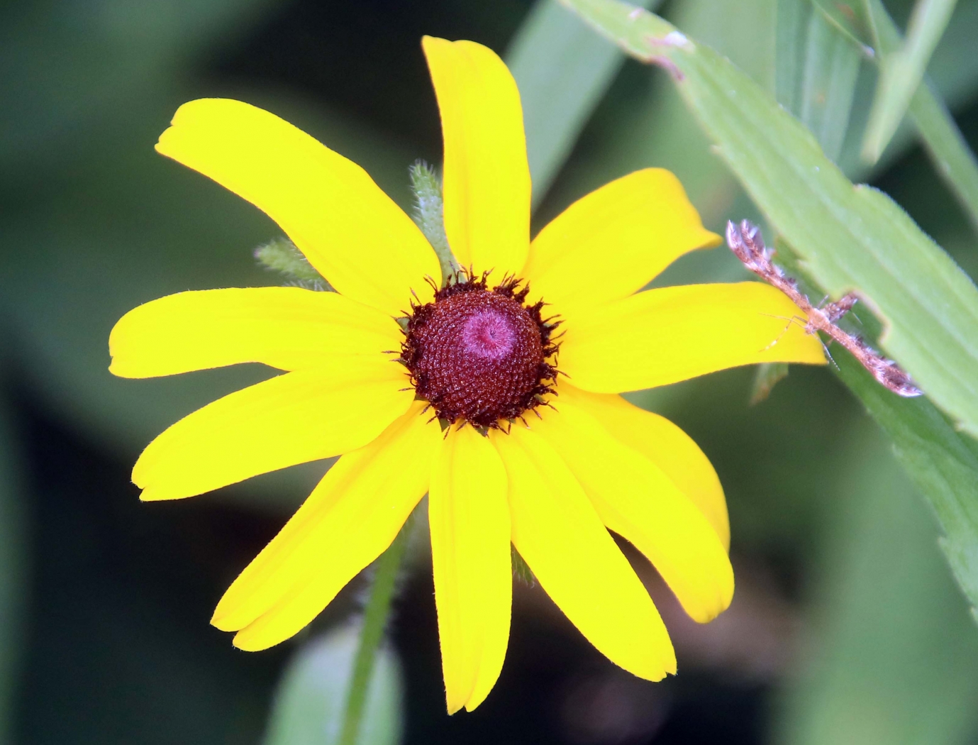
[[[891,199],[854,187],[805,127],[713,50],[615,0],[564,0],[646,62],[672,70],[690,111],[825,292],[883,319],[882,343],[978,434],[978,289]]]

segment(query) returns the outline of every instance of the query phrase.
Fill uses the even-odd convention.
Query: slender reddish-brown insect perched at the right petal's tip
[[[823,331],[832,339],[845,347],[859,360],[880,384],[898,396],[920,396],[923,392],[915,385],[911,376],[900,369],[900,365],[892,359],[887,359],[859,337],[843,331],[836,322],[852,309],[859,298],[850,293],[834,303],[824,303],[816,307],[809,302],[808,297],[798,290],[798,282],[787,276],[784,271],[772,261],[775,252],[765,248],[761,229],[748,220],[742,220],[739,225],[727,223],[727,245],[733,254],[743,261],[743,265],[766,282],[774,285],[788,298],[800,307],[808,316],[805,322],[805,333],[815,334]]]

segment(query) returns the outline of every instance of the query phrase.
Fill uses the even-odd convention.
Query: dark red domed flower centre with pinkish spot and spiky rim
[[[526,306],[518,280],[488,288],[486,276],[460,274],[412,308],[401,349],[411,382],[449,423],[499,428],[552,393],[556,354],[544,303]]]

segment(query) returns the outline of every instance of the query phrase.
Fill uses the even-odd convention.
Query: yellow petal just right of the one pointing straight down
[[[633,675],[675,673],[658,611],[553,445],[518,425],[490,440],[509,476],[513,545],[557,607]]]

